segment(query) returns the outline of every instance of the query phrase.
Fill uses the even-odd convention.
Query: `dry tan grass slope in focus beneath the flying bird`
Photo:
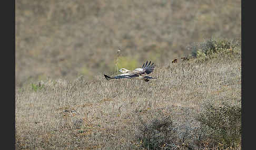
[[[16,88],[16,149],[220,148],[196,117],[209,104],[241,108],[241,48],[170,60],[152,77],[159,79],[107,81],[101,74],[92,81],[48,79]],[[169,143],[146,147],[145,132],[161,122],[173,129]]]

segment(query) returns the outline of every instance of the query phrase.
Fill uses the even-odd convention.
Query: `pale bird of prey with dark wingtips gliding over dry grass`
[[[145,82],[148,82],[150,79],[157,79],[157,78],[153,78],[153,77],[150,77],[147,75],[147,74],[150,74],[151,72],[153,72],[154,68],[155,68],[154,63],[151,64],[151,61],[150,61],[149,64],[147,64],[147,61],[146,61],[146,63],[143,63],[143,66],[141,68],[136,68],[133,71],[122,68],[119,70],[120,72],[122,72],[122,74],[119,74],[114,77],[110,77],[110,76],[107,76],[106,74],[104,74],[104,77],[107,80],[129,78],[129,79],[140,79]]]

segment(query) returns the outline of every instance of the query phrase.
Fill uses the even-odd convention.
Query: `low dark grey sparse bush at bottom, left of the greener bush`
[[[138,139],[146,149],[195,149],[201,140],[201,131],[191,124],[174,125],[170,117],[154,119],[148,123],[141,121]]]

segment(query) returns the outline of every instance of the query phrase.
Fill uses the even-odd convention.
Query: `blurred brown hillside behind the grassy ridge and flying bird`
[[[15,83],[161,66],[212,37],[241,38],[241,1],[16,0]]]

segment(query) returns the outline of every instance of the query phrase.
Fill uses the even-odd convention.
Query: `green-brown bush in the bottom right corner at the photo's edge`
[[[203,125],[209,138],[222,148],[234,147],[241,143],[241,108],[223,104],[215,108],[206,106],[205,112],[199,114],[197,120]]]

